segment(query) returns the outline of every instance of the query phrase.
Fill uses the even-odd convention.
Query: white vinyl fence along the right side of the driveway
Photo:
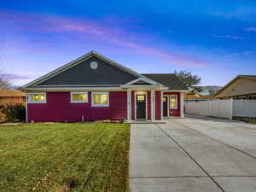
[[[188,114],[226,119],[232,119],[233,116],[256,117],[256,101],[229,99],[186,102],[185,111]]]

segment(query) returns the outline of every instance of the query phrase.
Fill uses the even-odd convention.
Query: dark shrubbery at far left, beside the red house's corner
[[[0,123],[21,122],[25,120],[26,108],[23,104],[8,104],[0,107]]]

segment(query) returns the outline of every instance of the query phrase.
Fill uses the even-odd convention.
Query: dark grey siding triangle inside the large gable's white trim
[[[90,67],[92,62],[97,63],[96,69]],[[119,85],[133,79],[137,77],[92,56],[38,85]]]

